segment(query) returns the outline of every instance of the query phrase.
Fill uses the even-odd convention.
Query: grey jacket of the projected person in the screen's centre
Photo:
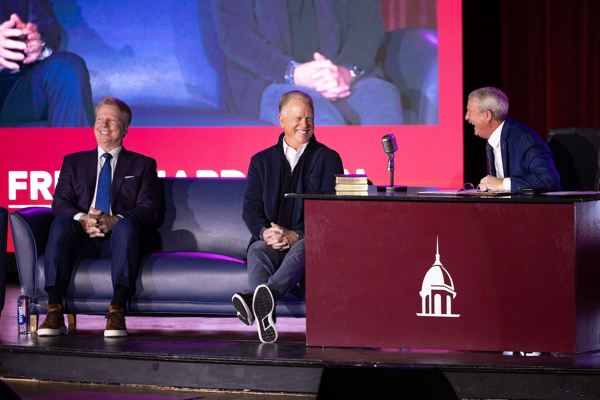
[[[383,77],[375,66],[383,40],[379,0],[319,0],[314,7],[320,53],[336,65],[367,71],[365,77]],[[263,90],[271,83],[284,83],[293,59],[286,1],[217,0],[215,12],[225,54],[227,106],[257,118]]]

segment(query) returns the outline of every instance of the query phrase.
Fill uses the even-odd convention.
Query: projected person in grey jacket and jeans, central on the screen
[[[379,0],[215,2],[227,107],[278,125],[281,95],[307,92],[319,125],[400,125],[398,89],[375,65]]]

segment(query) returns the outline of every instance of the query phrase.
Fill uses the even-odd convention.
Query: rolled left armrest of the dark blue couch
[[[10,213],[14,255],[17,258],[19,279],[33,297],[35,289],[35,263],[46,251],[50,224],[54,221],[52,209],[27,207]]]

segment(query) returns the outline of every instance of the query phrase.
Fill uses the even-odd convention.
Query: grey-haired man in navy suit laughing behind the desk
[[[488,172],[479,183],[488,190],[560,190],[560,175],[548,145],[532,128],[507,115],[508,98],[500,89],[470,92],[464,119],[473,125],[476,136],[487,139]]]

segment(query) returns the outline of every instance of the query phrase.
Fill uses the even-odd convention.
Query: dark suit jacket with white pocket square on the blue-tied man
[[[65,156],[52,201],[55,216],[88,213],[96,187],[97,163],[97,148]],[[149,226],[157,220],[160,201],[154,158],[121,149],[110,186],[113,215],[120,214]]]

